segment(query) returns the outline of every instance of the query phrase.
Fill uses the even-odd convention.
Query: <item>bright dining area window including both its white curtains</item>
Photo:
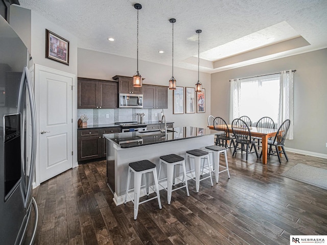
[[[261,117],[269,116],[279,127],[290,119],[287,138],[293,139],[295,71],[230,80],[229,122],[245,115],[255,125]]]

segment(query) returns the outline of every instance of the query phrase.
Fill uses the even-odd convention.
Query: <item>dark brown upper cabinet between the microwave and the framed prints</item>
[[[143,85],[144,109],[167,109],[168,87],[156,85]]]

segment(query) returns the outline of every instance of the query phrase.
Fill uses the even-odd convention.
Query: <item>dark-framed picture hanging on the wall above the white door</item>
[[[45,29],[45,58],[69,65],[69,41]]]

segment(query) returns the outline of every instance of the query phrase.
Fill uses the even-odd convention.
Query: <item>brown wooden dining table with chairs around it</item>
[[[232,133],[231,125],[228,126],[228,132]],[[208,126],[209,129],[215,130],[213,125]],[[221,127],[219,127],[221,128]],[[267,157],[268,157],[268,139],[270,137],[274,137],[278,129],[267,129],[267,128],[256,128],[250,127],[251,137],[260,137],[262,141],[262,163],[267,164]]]

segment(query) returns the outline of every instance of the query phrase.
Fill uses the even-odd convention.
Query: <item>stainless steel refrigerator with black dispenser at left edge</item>
[[[36,110],[27,47],[0,16],[0,243],[33,244]]]

